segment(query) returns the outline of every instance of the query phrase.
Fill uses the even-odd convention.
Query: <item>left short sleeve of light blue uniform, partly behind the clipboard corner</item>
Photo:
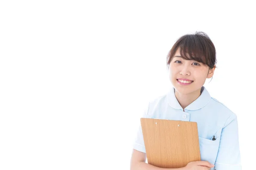
[[[145,110],[143,111],[142,118],[148,118],[148,108],[149,108],[149,103],[148,103],[147,107],[145,107]],[[141,124],[138,128],[137,136],[136,136],[133,148],[140,152],[146,153]]]

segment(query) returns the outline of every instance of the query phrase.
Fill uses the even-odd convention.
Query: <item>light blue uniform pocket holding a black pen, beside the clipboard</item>
[[[209,161],[211,164],[215,164],[219,144],[220,137],[214,141],[199,137],[201,160]],[[211,170],[214,170],[214,167]]]

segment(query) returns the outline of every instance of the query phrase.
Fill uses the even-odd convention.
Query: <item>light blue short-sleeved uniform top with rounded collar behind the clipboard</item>
[[[241,170],[236,114],[212,98],[204,86],[201,92],[183,111],[172,88],[149,102],[142,117],[197,122],[201,160],[215,164],[211,170]],[[213,136],[216,140],[212,140]],[[145,153],[141,126],[134,149]]]

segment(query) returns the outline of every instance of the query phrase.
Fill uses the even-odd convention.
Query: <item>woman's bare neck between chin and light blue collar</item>
[[[175,91],[176,99],[180,103],[180,106],[183,108],[183,111],[188,105],[194,102],[200,95],[201,95],[201,88],[190,94],[180,94],[179,92]]]

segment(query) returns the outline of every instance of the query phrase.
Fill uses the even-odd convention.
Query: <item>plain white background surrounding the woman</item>
[[[255,17],[250,1],[1,1],[0,169],[129,170],[145,105],[171,87],[166,55],[204,31],[205,86],[238,116],[255,164]]]

